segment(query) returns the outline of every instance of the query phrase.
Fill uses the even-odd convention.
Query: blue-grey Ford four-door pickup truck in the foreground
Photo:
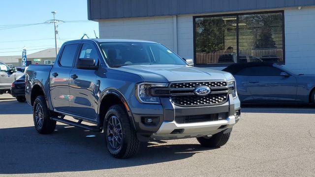
[[[150,41],[67,41],[54,65],[30,65],[25,80],[40,134],[52,133],[56,121],[103,132],[116,158],[157,140],[197,138],[221,147],[241,113],[230,73],[192,67]]]

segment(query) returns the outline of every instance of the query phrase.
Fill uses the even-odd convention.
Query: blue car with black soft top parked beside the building
[[[315,103],[315,75],[298,74],[269,62],[232,64],[241,103]]]

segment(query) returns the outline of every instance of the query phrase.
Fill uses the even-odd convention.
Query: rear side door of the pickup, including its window
[[[66,44],[50,72],[50,93],[54,108],[61,112],[70,112],[69,101],[73,97],[69,92],[69,77],[73,68],[79,44]]]

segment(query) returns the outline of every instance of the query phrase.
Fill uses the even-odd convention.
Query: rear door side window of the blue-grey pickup
[[[62,66],[72,66],[78,46],[79,44],[69,44],[64,46],[63,53],[59,61]]]

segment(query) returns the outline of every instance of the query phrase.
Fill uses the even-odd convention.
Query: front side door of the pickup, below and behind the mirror
[[[100,55],[93,42],[84,41],[77,59],[95,59],[95,66],[99,64]],[[76,66],[70,72],[69,80],[71,113],[78,117],[91,120],[96,119],[97,88],[100,80],[96,80],[95,69],[78,69]]]

